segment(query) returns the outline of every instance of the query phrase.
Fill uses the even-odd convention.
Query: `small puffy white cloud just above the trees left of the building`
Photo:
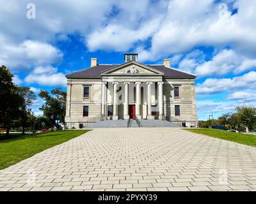
[[[67,85],[67,78],[63,73],[58,73],[57,68],[51,66],[35,68],[26,78],[25,82],[28,84],[39,84],[45,86],[65,87]]]

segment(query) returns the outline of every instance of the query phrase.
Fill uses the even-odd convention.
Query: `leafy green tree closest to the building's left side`
[[[40,91],[39,97],[45,100],[44,105],[39,108],[44,112],[44,116],[47,117],[51,123],[51,128],[58,125],[55,120],[64,122],[66,111],[66,92],[61,88],[56,88],[50,92]]]

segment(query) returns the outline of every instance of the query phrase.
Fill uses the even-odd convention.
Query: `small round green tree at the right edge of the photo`
[[[246,133],[248,133],[249,129],[253,129],[256,123],[256,108],[244,105],[237,106],[236,110],[240,126],[245,128]]]

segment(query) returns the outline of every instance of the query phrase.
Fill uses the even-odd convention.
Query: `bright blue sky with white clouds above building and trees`
[[[65,74],[90,66],[138,61],[195,73],[199,119],[256,104],[256,1],[0,0],[0,64],[35,92],[65,89]],[[31,13],[30,13],[31,14]],[[35,115],[43,101],[33,105]]]

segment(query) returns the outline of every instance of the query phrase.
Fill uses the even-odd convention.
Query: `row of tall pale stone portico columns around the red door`
[[[151,82],[143,78],[140,78],[140,82],[136,78],[129,82],[122,78],[112,79],[115,82],[102,82],[102,115],[112,116],[113,120],[129,119],[135,117],[135,115],[138,119],[155,119],[156,115],[152,115],[152,105],[154,105],[159,109],[157,119],[163,119],[163,82],[159,82],[157,78]],[[110,94],[108,94],[108,91]],[[152,103],[152,99],[154,103]],[[113,115],[108,115],[107,108],[111,105],[113,106]],[[135,115],[132,108],[129,109],[129,105],[135,106]],[[123,111],[118,113],[118,107],[121,107]]]

